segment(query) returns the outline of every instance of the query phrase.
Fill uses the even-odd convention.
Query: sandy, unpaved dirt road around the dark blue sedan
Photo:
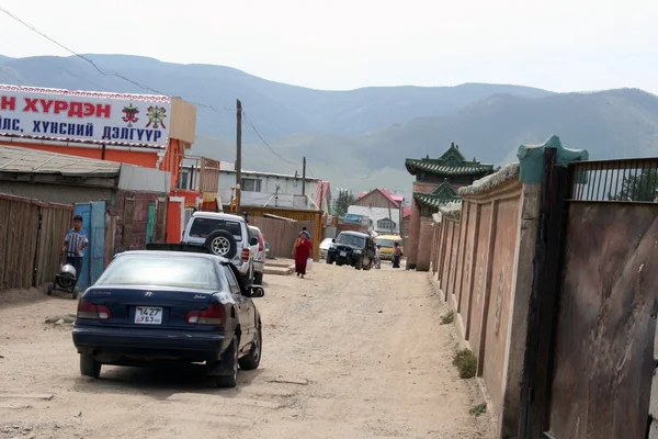
[[[489,438],[452,325],[426,273],[316,263],[265,278],[261,368],[236,390],[197,367],[104,367],[81,378],[70,299],[0,309],[0,438]],[[8,395],[9,394],[9,395]],[[19,397],[23,394],[22,397]],[[52,394],[41,399],[39,394]],[[45,397],[45,395],[44,395]]]

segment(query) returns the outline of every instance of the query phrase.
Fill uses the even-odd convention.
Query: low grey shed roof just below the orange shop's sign
[[[0,172],[117,176],[120,171],[116,161],[0,145]]]

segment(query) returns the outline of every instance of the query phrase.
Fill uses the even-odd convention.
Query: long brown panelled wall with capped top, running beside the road
[[[521,183],[513,164],[460,194],[461,205],[433,216],[429,238],[421,224],[418,268],[429,255],[432,279],[455,311],[461,344],[478,359],[477,379],[498,437],[510,438],[520,413],[538,187]]]

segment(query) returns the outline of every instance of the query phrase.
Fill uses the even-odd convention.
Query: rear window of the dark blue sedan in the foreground
[[[97,285],[170,286],[219,290],[215,262],[193,255],[129,255],[116,258]]]

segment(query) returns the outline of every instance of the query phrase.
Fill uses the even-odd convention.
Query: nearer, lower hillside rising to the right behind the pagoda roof
[[[408,190],[406,157],[439,156],[457,142],[467,158],[501,165],[515,158],[519,145],[542,143],[553,134],[565,147],[588,149],[592,159],[656,156],[658,98],[636,89],[540,99],[494,95],[455,114],[418,119],[362,136],[298,134],[271,145],[286,159],[300,162],[305,155],[315,173],[348,188]],[[204,139],[196,148],[213,154],[211,144],[216,148],[218,142]],[[217,148],[222,155],[232,154],[232,144]],[[246,151],[246,166],[282,172],[300,169],[262,144],[254,143]]]

